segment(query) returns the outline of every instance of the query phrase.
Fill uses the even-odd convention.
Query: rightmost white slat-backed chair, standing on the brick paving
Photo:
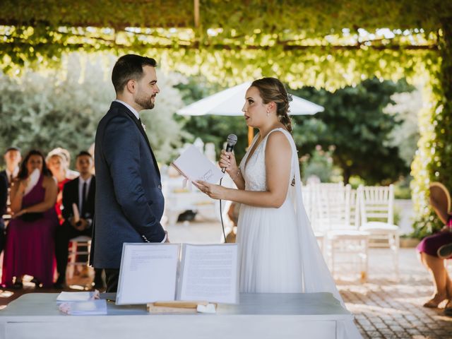
[[[370,233],[370,248],[388,248],[393,254],[393,265],[398,278],[399,227],[394,225],[394,186],[358,187],[361,227]]]

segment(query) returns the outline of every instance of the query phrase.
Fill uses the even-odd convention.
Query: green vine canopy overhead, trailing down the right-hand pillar
[[[451,1],[199,2],[196,23],[192,1],[1,1],[0,69],[18,74],[71,51],[114,50],[157,57],[166,69],[223,87],[276,76],[292,88],[333,91],[374,76],[429,76],[412,173],[418,219],[431,224],[428,183],[452,187]]]

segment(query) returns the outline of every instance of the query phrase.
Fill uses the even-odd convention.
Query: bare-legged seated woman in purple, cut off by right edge
[[[447,299],[446,309],[451,309],[452,282],[447,273],[444,258],[438,256],[438,249],[445,244],[452,243],[452,215],[439,201],[436,201],[432,194],[430,195],[430,204],[445,226],[441,231],[422,239],[422,242],[417,245],[417,251],[420,252],[420,261],[432,275],[435,289],[432,299],[426,302],[424,307],[438,307],[441,302]]]

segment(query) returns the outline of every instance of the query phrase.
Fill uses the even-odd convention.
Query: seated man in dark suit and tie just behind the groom
[[[66,283],[66,266],[68,263],[69,240],[86,235],[91,237],[94,217],[95,177],[91,174],[93,157],[82,151],[76,157],[76,167],[80,177],[66,183],[63,188],[62,213],[64,222],[57,228],[55,237],[55,255],[57,256],[58,279],[54,287],[63,288]],[[76,207],[73,207],[73,206]],[[80,216],[78,218],[74,215]],[[78,220],[76,220],[78,218]],[[87,258],[88,259],[88,258]],[[88,260],[87,260],[88,261]],[[102,270],[95,270],[95,288],[102,288]]]

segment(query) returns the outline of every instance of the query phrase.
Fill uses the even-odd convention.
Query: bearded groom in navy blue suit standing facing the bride
[[[165,242],[160,171],[138,114],[153,109],[154,59],[127,54],[112,71],[117,99],[100,120],[95,138],[95,220],[91,263],[104,268],[107,291],[117,292],[124,242]]]

